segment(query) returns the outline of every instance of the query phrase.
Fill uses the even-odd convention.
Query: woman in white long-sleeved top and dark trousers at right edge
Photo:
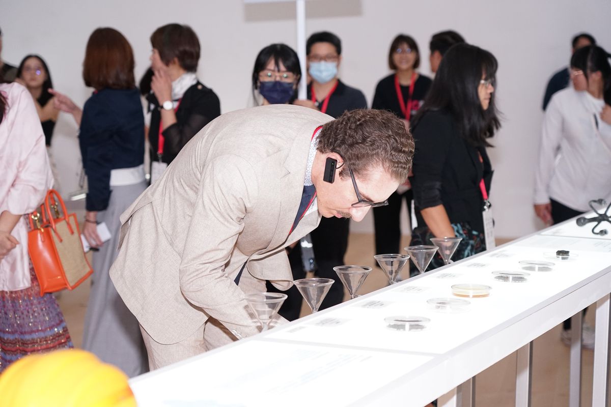
[[[546,225],[590,210],[590,200],[611,200],[611,118],[603,96],[611,89],[609,54],[599,46],[577,49],[571,81],[552,96],[545,111],[535,173],[535,213]],[[582,345],[594,346],[594,330],[584,323]],[[562,341],[571,343],[571,320]]]

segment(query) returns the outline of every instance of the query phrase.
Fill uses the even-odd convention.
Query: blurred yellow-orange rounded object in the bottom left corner
[[[135,407],[127,381],[117,367],[84,350],[37,353],[0,375],[0,407]]]

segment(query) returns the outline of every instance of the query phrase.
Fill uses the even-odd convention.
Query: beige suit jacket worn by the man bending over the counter
[[[315,129],[332,120],[290,105],[226,113],[182,149],[121,216],[112,281],[161,344],[189,337],[208,317],[236,335],[258,332],[244,273],[288,289],[284,248],[316,228],[316,206],[291,232]]]

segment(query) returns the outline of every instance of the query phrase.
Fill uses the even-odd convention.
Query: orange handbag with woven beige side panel
[[[27,249],[41,297],[46,292],[74,289],[93,273],[82,248],[76,215],[66,212],[56,190],[48,190],[40,212],[32,212],[29,222]]]

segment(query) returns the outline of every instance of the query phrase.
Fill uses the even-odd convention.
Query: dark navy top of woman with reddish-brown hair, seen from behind
[[[103,211],[111,196],[111,170],[144,162],[144,115],[140,92],[102,89],[87,99],[79,131],[87,174],[87,211]]]

